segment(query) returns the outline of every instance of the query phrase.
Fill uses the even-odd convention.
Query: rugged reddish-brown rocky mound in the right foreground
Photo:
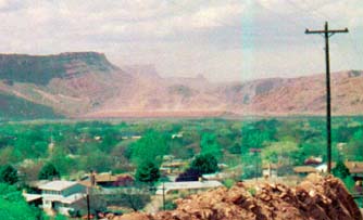
[[[248,186],[237,183],[176,200],[177,209],[153,216],[130,213],[121,220],[363,219],[340,180],[310,176],[296,187],[283,184]]]

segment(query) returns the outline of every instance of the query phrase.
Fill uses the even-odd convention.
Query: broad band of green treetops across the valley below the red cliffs
[[[159,168],[164,155],[190,166],[196,155],[211,154],[217,164],[241,166],[236,170],[242,178],[253,178],[263,164],[280,164],[289,173],[311,156],[325,161],[325,135],[323,117],[1,122],[0,166],[12,165],[29,181],[47,164],[74,178],[89,170],[135,173],[148,161]],[[363,160],[362,139],[362,118],[333,118],[334,160]]]

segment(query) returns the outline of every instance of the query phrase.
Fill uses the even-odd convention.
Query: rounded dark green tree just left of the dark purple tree
[[[137,167],[136,180],[139,182],[153,183],[159,180],[159,167],[153,161],[143,161]]]

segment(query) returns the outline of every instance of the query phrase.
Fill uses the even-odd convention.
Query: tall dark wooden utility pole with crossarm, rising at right
[[[331,172],[331,104],[330,104],[330,60],[329,60],[329,37],[334,34],[348,33],[346,29],[330,29],[328,22],[325,22],[324,30],[305,30],[306,35],[318,34],[325,38],[325,64],[326,64],[326,143],[327,143],[327,171]]]

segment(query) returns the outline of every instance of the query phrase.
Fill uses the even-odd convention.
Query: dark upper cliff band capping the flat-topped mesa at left
[[[116,69],[96,52],[61,53],[58,55],[0,54],[0,79],[12,82],[47,85],[53,78],[70,77],[85,70]]]

